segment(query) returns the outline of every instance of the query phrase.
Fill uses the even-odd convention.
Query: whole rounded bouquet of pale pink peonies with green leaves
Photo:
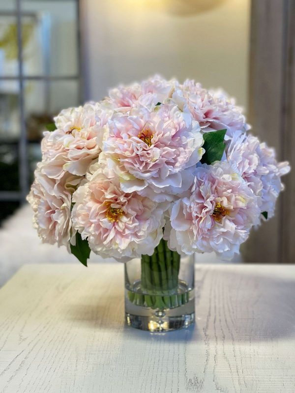
[[[28,200],[42,241],[85,265],[90,250],[127,261],[163,241],[232,258],[290,170],[232,99],[190,80],[119,86],[54,121]]]

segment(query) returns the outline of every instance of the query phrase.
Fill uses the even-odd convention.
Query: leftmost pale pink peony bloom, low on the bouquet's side
[[[56,182],[42,173],[42,166],[38,164],[35,170],[35,180],[27,197],[34,212],[33,224],[43,243],[69,248],[71,196],[81,178],[68,175]]]

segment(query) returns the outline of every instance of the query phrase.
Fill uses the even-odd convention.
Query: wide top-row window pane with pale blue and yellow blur
[[[22,1],[25,75],[78,73],[76,6],[74,0]]]

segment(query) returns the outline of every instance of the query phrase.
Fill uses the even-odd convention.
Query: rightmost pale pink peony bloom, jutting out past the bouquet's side
[[[278,163],[275,151],[260,143],[253,135],[236,133],[226,149],[227,160],[234,163],[239,174],[258,197],[261,212],[274,215],[275,202],[284,189],[281,176],[290,171],[287,162]]]

